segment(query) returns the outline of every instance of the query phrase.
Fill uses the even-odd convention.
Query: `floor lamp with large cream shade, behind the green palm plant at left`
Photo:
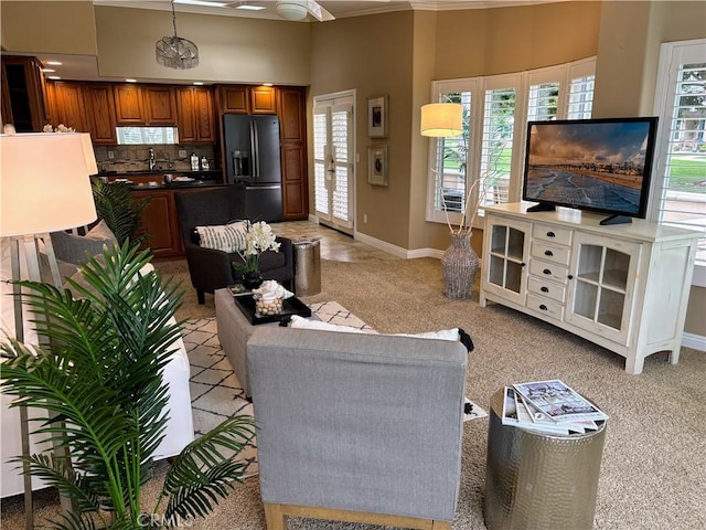
[[[62,279],[50,232],[96,220],[90,174],[98,172],[90,136],[86,134],[20,134],[0,136],[0,237],[10,240],[12,279],[41,282],[43,243],[54,285]],[[22,292],[13,285],[15,338],[23,342]],[[3,300],[4,303],[4,300]],[[30,454],[28,410],[20,407],[22,456]],[[9,433],[3,433],[8,435]],[[69,499],[62,507],[71,509]],[[32,477],[24,465],[26,528],[33,528]]]

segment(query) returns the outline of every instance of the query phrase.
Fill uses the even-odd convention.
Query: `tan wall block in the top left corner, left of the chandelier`
[[[96,23],[90,0],[0,2],[2,49],[13,52],[96,55]]]

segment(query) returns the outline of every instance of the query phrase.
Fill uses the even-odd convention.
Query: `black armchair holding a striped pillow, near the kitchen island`
[[[238,276],[233,262],[239,262],[237,253],[204,248],[194,240],[196,226],[221,225],[245,215],[245,191],[240,187],[224,186],[203,191],[174,193],[179,227],[186,251],[186,263],[191,285],[196,289],[199,304],[205,301],[205,293],[213,294],[237,283]],[[276,279],[291,287],[295,278],[295,263],[291,241],[277,237],[281,243],[279,252],[264,252],[260,256],[260,273],[265,279]]]

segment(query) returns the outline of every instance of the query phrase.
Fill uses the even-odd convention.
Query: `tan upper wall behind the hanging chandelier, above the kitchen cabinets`
[[[154,42],[173,32],[168,11],[97,7],[96,24],[101,75],[309,84],[306,23],[178,13],[179,36],[199,46],[201,64],[191,71],[164,68],[154,60]]]

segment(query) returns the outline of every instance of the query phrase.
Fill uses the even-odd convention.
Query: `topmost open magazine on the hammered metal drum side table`
[[[605,412],[558,379],[513,386],[528,404],[555,422],[608,420]]]

